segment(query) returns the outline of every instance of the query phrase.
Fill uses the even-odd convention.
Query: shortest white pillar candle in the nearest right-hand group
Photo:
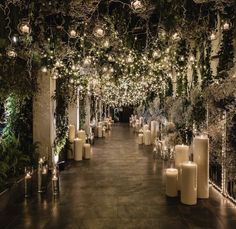
[[[178,195],[178,170],[174,168],[166,169],[166,195],[175,197]]]

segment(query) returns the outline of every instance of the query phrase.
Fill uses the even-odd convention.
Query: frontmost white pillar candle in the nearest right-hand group
[[[197,164],[191,161],[181,165],[181,202],[187,205],[197,203]]]

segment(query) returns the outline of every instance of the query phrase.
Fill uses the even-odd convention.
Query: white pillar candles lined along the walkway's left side
[[[99,122],[94,128],[94,135],[88,138],[84,130],[76,132],[74,125],[69,125],[69,141],[71,144],[70,151],[68,152],[68,159],[75,161],[82,161],[83,159],[90,159],[91,157],[91,142],[94,137],[105,137],[106,131],[111,130],[113,121],[106,118],[104,121]]]

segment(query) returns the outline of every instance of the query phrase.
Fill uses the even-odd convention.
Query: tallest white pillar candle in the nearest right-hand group
[[[197,136],[193,139],[193,161],[198,166],[197,197],[209,198],[209,138]]]

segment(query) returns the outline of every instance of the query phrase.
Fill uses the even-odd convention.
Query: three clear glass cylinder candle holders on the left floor
[[[28,198],[32,195],[33,192],[33,169],[25,168],[25,179],[24,179],[24,194],[25,197]],[[40,158],[38,162],[38,170],[37,170],[37,189],[38,193],[45,193],[47,191],[49,179],[49,170],[48,163],[45,158]],[[59,194],[59,171],[56,166],[54,166],[52,170],[52,193],[53,195]]]

